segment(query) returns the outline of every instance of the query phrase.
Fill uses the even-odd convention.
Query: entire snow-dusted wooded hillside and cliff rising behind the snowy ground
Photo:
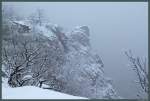
[[[40,16],[40,15],[39,15]],[[88,26],[66,33],[41,18],[3,21],[2,70],[11,87],[38,86],[87,98],[119,98],[92,52]]]

